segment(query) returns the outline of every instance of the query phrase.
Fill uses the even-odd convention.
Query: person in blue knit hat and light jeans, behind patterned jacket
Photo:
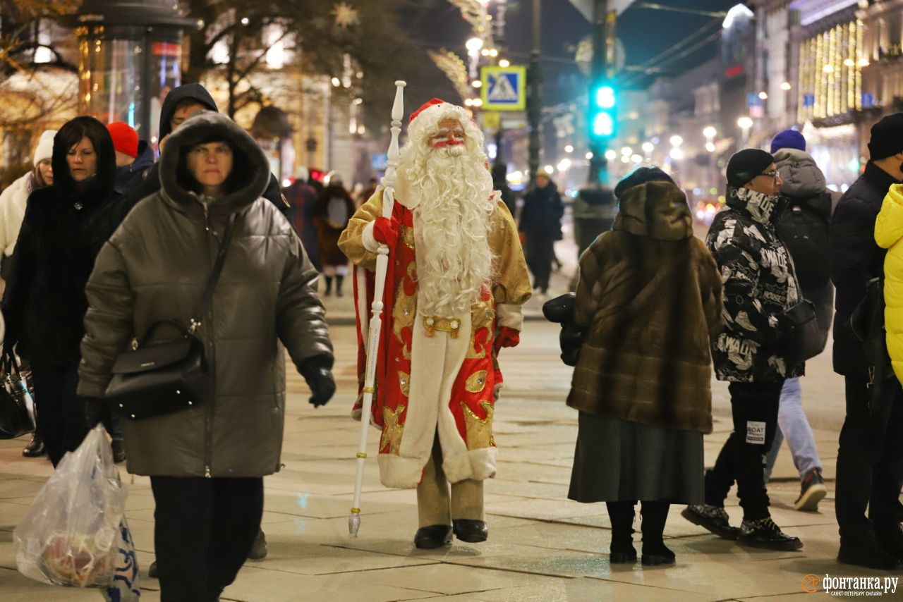
[[[815,159],[805,152],[803,134],[796,130],[778,133],[771,141],[771,153],[781,177],[779,192],[787,201],[787,206],[777,218],[775,230],[793,258],[803,298],[815,304],[815,316],[824,347],[834,308],[831,271],[824,261],[829,251],[828,232],[833,198],[827,190],[824,173],[818,169]],[[787,378],[781,389],[775,440],[766,456],[766,482],[771,477],[777,453],[785,438],[800,480],[800,493],[794,508],[818,510],[818,503],[827,489],[822,477],[822,461],[815,449],[815,437],[805,418],[799,378]]]

